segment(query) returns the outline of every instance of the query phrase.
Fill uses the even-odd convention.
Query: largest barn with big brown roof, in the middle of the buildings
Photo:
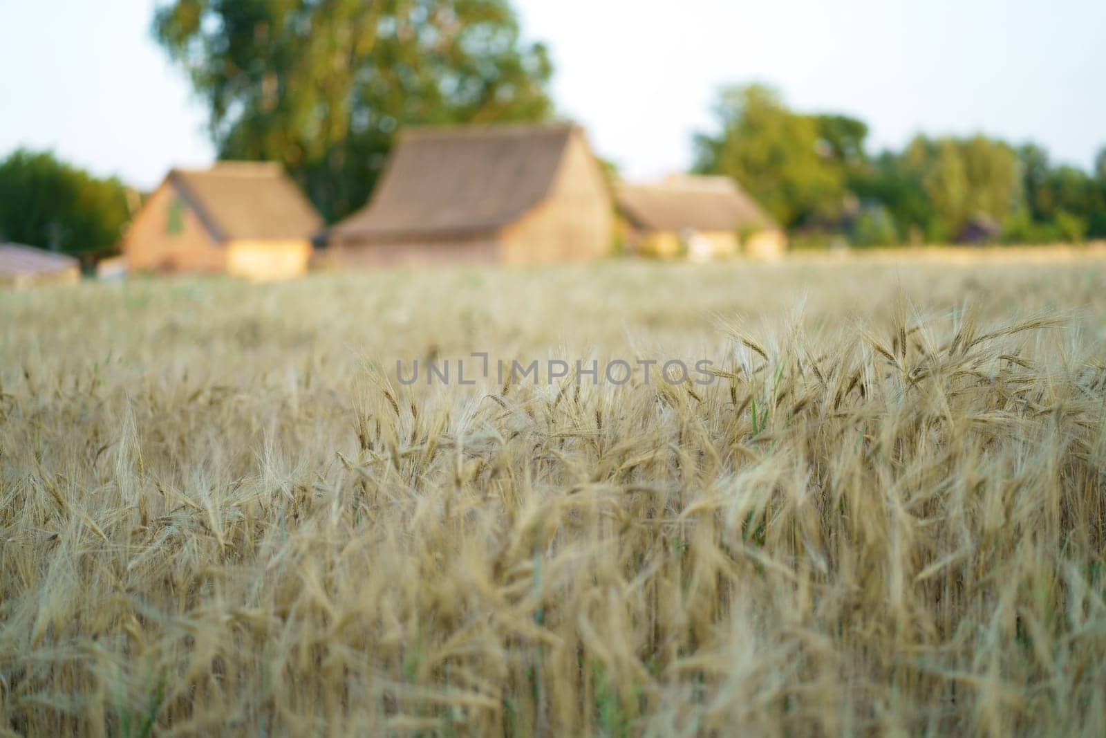
[[[568,124],[404,131],[368,205],[330,231],[335,266],[532,263],[607,253],[614,210]]]

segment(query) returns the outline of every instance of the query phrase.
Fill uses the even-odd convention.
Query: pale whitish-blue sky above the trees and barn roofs
[[[553,96],[630,176],[691,163],[720,85],[866,121],[874,148],[982,131],[1088,167],[1106,146],[1103,0],[515,0]],[[153,0],[0,0],[0,156],[52,148],[155,185],[204,165],[205,111],[153,41]]]

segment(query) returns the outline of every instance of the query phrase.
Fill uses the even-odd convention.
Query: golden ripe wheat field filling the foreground
[[[1104,285],[856,258],[0,292],[0,731],[1106,735]],[[714,372],[397,372],[471,352]]]

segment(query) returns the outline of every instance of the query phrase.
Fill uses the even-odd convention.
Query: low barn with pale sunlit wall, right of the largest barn
[[[783,229],[729,177],[675,175],[654,185],[619,184],[616,199],[622,236],[634,253],[771,259],[787,247]]]

